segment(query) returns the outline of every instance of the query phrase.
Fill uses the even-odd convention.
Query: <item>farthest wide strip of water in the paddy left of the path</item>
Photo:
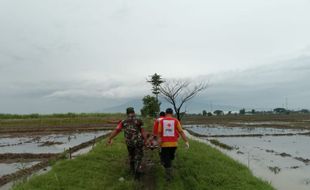
[[[72,134],[53,134],[32,137],[0,136],[0,154],[3,153],[61,153],[65,149],[107,134],[96,131]]]

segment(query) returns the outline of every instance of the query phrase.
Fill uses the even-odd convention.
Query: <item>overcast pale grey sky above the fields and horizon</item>
[[[0,113],[124,105],[150,93],[155,72],[209,81],[193,104],[310,108],[309,10],[309,0],[0,0]]]

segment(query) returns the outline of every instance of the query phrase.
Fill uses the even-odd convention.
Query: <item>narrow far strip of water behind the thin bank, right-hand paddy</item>
[[[307,133],[309,130],[303,129],[280,129],[262,127],[225,127],[222,125],[185,125],[191,131],[206,136],[242,136],[242,135],[285,135],[296,133]]]

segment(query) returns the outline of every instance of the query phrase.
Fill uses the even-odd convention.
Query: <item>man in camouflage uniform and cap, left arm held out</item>
[[[127,119],[121,121],[116,129],[111,133],[108,144],[112,144],[112,139],[117,136],[121,130],[124,130],[125,141],[127,145],[130,169],[136,178],[141,174],[141,162],[143,157],[143,146],[146,135],[143,129],[143,122],[137,119],[132,107],[127,108]]]

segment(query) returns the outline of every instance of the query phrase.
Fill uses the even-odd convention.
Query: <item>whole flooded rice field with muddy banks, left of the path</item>
[[[49,159],[57,158],[68,149],[71,150],[70,158],[89,152],[95,139],[109,132],[0,135],[0,189],[1,185],[22,176],[20,171],[25,170],[24,173],[31,174],[42,169],[48,165]]]

